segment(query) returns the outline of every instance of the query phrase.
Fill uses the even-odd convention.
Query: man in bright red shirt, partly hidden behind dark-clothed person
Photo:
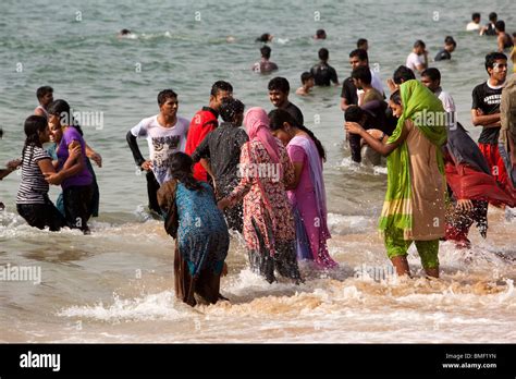
[[[186,137],[185,152],[192,156],[200,145],[206,135],[219,126],[219,108],[223,99],[233,97],[233,87],[230,83],[219,81],[211,86],[210,102],[208,107],[202,107],[200,111],[194,114],[189,124],[188,136]],[[201,159],[194,164],[194,178],[198,181],[208,181],[206,171],[207,162]]]

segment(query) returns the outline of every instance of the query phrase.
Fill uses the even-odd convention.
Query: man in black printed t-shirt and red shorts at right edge
[[[489,80],[472,90],[471,122],[482,126],[478,146],[482,151],[491,173],[503,186],[507,184],[507,171],[500,156],[500,102],[507,76],[507,57],[501,52],[486,56],[486,70]]]

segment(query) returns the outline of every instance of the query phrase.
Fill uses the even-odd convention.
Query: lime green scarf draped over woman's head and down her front
[[[444,174],[441,146],[446,143],[446,127],[441,100],[418,81],[408,81],[400,86],[403,114],[396,130],[388,143],[394,143],[402,136],[405,121],[410,119],[416,127],[432,144],[438,146],[439,170]],[[379,229],[382,233],[390,230],[403,230],[404,239],[410,240],[413,230],[413,209],[410,191],[410,158],[407,143],[403,142],[388,157],[388,191],[380,216]]]

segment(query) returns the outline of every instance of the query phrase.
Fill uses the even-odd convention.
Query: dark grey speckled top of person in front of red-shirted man
[[[243,129],[223,122],[209,133],[192,155],[194,162],[201,158],[209,159],[217,184],[217,199],[228,196],[239,182],[238,163],[242,146],[249,140]],[[243,205],[238,203],[224,209],[230,229],[242,232]]]

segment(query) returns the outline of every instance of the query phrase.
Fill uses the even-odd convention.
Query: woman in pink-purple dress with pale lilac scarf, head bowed
[[[294,164],[295,180],[287,187],[296,219],[297,259],[314,260],[320,268],[337,264],[328,253],[328,211],[322,179],[324,148],[306,126],[298,125],[285,110],[269,113],[272,134],[286,146]]]

